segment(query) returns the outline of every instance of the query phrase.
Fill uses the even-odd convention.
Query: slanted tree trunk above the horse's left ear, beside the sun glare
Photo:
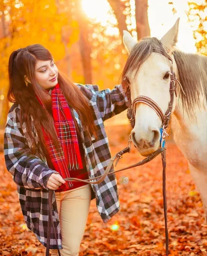
[[[111,5],[114,14],[116,15],[116,19],[118,21],[118,29],[121,37],[123,37],[123,30],[128,31],[127,24],[126,24],[126,17],[123,14],[125,9],[125,5],[120,0],[108,0],[108,3]]]

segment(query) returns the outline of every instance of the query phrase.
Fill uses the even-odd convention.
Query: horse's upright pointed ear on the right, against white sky
[[[173,51],[174,46],[178,41],[178,27],[180,18],[176,20],[174,26],[161,38],[161,43],[167,48],[168,53]]]

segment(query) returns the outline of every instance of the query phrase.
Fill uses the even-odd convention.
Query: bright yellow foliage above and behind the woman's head
[[[3,0],[1,4],[2,2]],[[68,18],[68,12],[60,11],[64,9],[57,6],[55,0],[22,0],[21,5],[17,3],[17,0],[8,0],[5,6],[5,12],[9,10],[6,17],[9,33],[0,39],[1,86],[8,86],[7,67],[13,51],[39,43],[58,61],[65,57],[64,40],[69,41],[70,46],[78,38],[77,23]],[[70,31],[67,32],[64,28],[70,28]],[[70,40],[67,39],[69,36]]]

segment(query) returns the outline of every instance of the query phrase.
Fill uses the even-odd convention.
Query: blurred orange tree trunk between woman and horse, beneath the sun
[[[82,9],[80,0],[76,3],[76,16],[79,25],[79,48],[82,58],[85,84],[92,84],[91,43],[88,39],[90,33],[89,20]]]

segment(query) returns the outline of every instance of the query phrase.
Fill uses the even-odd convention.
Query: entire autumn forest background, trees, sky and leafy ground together
[[[113,88],[128,58],[123,30],[159,39],[181,17],[178,48],[207,56],[207,0],[0,0],[0,151],[11,104],[7,66],[18,48],[40,43],[72,82]],[[123,124],[127,124],[123,127]],[[126,147],[131,126],[124,111],[105,122],[112,155]],[[116,129],[115,126],[116,125]],[[132,153],[117,168],[140,161]],[[80,256],[161,256],[165,251],[159,157],[117,175],[121,211],[107,224],[91,202]],[[128,184],[120,183],[127,175]],[[170,256],[207,256],[207,225],[188,162],[174,143],[167,150]],[[0,256],[43,256],[46,248],[26,227],[17,187],[0,152]]]

